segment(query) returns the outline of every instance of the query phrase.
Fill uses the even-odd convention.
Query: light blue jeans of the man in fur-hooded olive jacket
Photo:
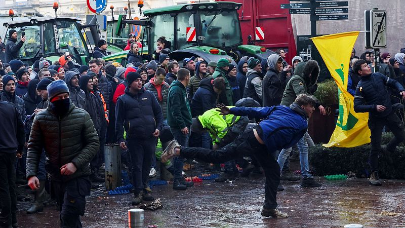
[[[308,131],[305,132],[305,135],[298,141],[298,149],[300,150],[300,165],[301,165],[301,173],[303,177],[310,177],[309,174],[309,161],[308,161],[308,143],[307,143],[307,135]],[[309,134],[308,134],[309,136]],[[288,159],[288,156],[291,153],[293,148],[290,147],[288,149],[282,149],[280,154],[278,155],[278,165],[280,167],[284,166],[284,163]]]

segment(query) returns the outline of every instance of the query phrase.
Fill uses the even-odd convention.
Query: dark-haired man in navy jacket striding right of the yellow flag
[[[391,153],[404,139],[402,121],[395,114],[390,94],[386,86],[395,88],[402,99],[405,99],[405,90],[401,84],[381,73],[371,73],[371,67],[363,59],[353,64],[353,71],[360,76],[354,96],[354,111],[369,112],[369,128],[371,131],[370,167],[371,185],[381,185],[378,177],[378,155],[381,150],[381,133],[384,126],[388,126],[394,138],[383,148],[387,158],[391,160]]]

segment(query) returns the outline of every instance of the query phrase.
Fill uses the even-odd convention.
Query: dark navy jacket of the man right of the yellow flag
[[[398,94],[405,91],[400,83],[381,73],[371,73],[360,77],[354,96],[354,111],[370,112],[370,118],[388,116],[392,111],[392,104],[385,86],[395,88]],[[384,105],[386,109],[378,112],[377,105]]]

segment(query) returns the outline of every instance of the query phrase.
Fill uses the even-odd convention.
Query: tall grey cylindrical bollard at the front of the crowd
[[[121,149],[119,144],[105,145],[104,161],[105,188],[108,191],[121,186]]]

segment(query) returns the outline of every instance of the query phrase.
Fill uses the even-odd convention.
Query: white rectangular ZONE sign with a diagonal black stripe
[[[370,38],[372,48],[387,47],[387,12],[385,10],[370,11]]]

